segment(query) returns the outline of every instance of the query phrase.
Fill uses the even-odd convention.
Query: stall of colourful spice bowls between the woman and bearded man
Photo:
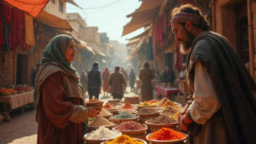
[[[97,118],[89,118],[90,133],[84,135],[85,143],[186,143],[188,135],[178,128],[181,104],[166,97],[137,104],[121,100],[102,103],[97,99],[86,103],[100,104],[103,109]]]

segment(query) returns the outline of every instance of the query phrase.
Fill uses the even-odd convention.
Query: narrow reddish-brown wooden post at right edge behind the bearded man
[[[250,54],[250,74],[255,79],[254,65],[254,45],[253,45],[253,29],[252,29],[252,1],[247,0],[247,17],[248,17],[248,36],[249,36],[249,54]]]

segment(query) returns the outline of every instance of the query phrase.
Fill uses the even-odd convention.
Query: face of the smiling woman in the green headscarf
[[[78,52],[78,50],[75,48],[75,42],[74,40],[70,40],[68,47],[65,50],[65,60],[67,60],[67,62],[75,61],[76,52]]]

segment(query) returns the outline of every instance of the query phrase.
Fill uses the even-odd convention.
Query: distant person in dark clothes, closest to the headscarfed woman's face
[[[92,65],[92,70],[88,72],[88,94],[89,99],[92,99],[92,96],[95,96],[95,99],[99,99],[100,87],[102,86],[100,78],[100,70],[97,62],[94,62]]]

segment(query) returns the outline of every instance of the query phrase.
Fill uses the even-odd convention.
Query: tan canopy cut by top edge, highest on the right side
[[[159,13],[160,6],[163,0],[144,0],[139,9],[129,14],[127,17],[132,17],[132,20],[124,26],[122,35],[132,33],[139,28],[149,26],[153,21],[154,16]]]

